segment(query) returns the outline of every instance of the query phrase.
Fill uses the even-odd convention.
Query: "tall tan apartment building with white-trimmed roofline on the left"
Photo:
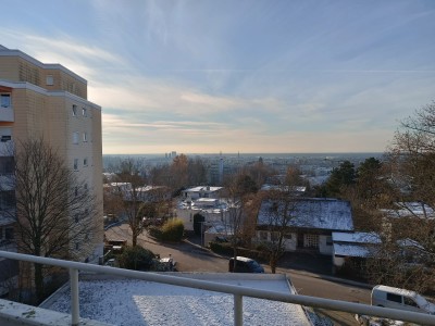
[[[75,248],[94,246],[94,253],[83,260],[98,261],[103,251],[101,108],[88,101],[87,82],[77,74],[0,45],[0,181],[13,173],[11,145],[40,137],[97,198],[95,222],[101,233],[92,243]],[[14,189],[0,188],[0,250],[16,250],[11,246],[14,221],[5,214],[13,210],[13,193]]]

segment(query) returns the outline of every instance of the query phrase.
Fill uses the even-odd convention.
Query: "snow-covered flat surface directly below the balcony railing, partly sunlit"
[[[211,280],[211,279],[210,279]],[[290,293],[277,280],[219,279],[220,283]],[[70,313],[70,291],[50,306]],[[234,325],[234,296],[145,280],[79,284],[80,316],[114,325]],[[244,297],[245,325],[307,325],[299,305]]]

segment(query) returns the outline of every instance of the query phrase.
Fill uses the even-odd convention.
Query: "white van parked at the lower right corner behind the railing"
[[[435,304],[419,293],[383,285],[373,288],[372,305],[435,314]]]

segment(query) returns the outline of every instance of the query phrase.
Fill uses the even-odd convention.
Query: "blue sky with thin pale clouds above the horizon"
[[[103,153],[374,152],[435,100],[435,1],[0,0],[88,80]]]

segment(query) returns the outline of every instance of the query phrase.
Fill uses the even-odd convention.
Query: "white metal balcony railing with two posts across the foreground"
[[[308,297],[300,294],[286,294],[282,292],[225,285],[222,283],[212,283],[199,279],[181,278],[176,276],[170,276],[157,273],[145,273],[145,272],[99,266],[86,263],[62,261],[62,260],[40,258],[40,256],[34,256],[34,255],[21,254],[8,251],[0,251],[0,256],[12,260],[67,268],[70,271],[70,284],[71,284],[72,325],[79,324],[78,271],[111,274],[122,277],[129,277],[148,281],[234,294],[234,325],[243,325],[243,297],[288,302],[304,306],[343,311],[343,312],[362,314],[369,316],[378,316],[396,321],[417,323],[419,325],[435,325],[434,315],[407,312],[396,309],[386,309],[386,308],[372,306],[361,303],[353,303],[353,302],[346,302],[346,301],[338,301],[338,300],[331,300],[331,299],[323,299],[323,298],[315,298],[315,297]]]

